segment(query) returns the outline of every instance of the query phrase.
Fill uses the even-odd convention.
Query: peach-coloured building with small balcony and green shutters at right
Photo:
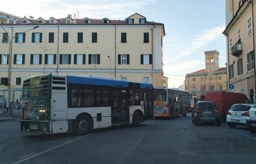
[[[230,91],[244,93],[254,103],[256,70],[253,31],[256,12],[253,8],[256,0],[237,0],[238,4],[232,4],[232,0],[226,1],[229,1],[229,5],[238,5],[236,13],[223,32],[226,36],[227,85],[232,86],[233,89],[229,89]]]

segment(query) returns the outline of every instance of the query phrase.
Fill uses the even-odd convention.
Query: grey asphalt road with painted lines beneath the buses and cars
[[[138,128],[98,129],[86,136],[25,133],[19,120],[0,122],[0,164],[255,163],[256,134],[246,126],[194,126],[191,113]]]

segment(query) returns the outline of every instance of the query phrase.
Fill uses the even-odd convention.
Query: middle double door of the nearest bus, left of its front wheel
[[[111,123],[121,124],[129,122],[128,90],[112,89]]]

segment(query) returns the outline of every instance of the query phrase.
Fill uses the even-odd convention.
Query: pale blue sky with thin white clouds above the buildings
[[[80,19],[124,20],[137,12],[147,21],[163,23],[168,87],[179,87],[186,74],[205,69],[205,51],[220,52],[219,67],[226,67],[225,0],[9,0],[1,2],[0,11],[45,20],[73,18],[74,13]]]

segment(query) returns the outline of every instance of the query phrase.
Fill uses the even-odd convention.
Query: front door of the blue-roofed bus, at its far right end
[[[141,91],[143,92],[143,91]],[[144,118],[145,120],[152,120],[154,118],[152,91],[144,90]]]

